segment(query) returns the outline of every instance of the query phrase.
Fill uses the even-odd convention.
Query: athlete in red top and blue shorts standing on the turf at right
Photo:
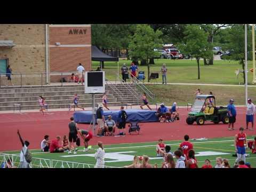
[[[241,160],[245,162],[245,145],[247,147],[247,141],[243,127],[240,127],[239,133],[235,135],[234,145],[237,153],[236,163],[238,163]]]

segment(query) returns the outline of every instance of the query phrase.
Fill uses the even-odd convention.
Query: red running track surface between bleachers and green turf
[[[22,138],[30,142],[30,149],[38,149],[45,134],[50,135],[50,140],[57,135],[68,134],[69,118],[73,115],[70,111],[49,112],[43,116],[41,113],[26,114],[0,114],[0,151],[18,150],[21,148],[17,135],[20,130]],[[187,125],[187,110],[180,109],[180,121],[174,123],[141,123],[140,135],[126,135],[125,137],[94,137],[89,142],[95,145],[97,141],[104,144],[132,143],[164,140],[183,139],[188,134],[190,138],[216,138],[232,137],[236,131],[228,131],[227,125],[222,123],[215,125],[207,122],[203,126]],[[245,126],[245,108],[237,109],[237,122],[235,128]],[[78,124],[80,129],[87,129],[88,124]],[[255,135],[256,131],[246,131],[247,135]]]

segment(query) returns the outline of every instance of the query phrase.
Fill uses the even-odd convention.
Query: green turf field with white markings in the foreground
[[[196,158],[198,161],[199,167],[204,164],[204,160],[210,159],[212,165],[215,165],[215,158],[222,157],[229,159],[230,165],[233,165],[236,157],[232,155],[235,154],[234,151],[234,141],[233,137],[229,138],[216,138],[208,140],[191,140],[196,151]],[[248,137],[247,139],[252,140],[253,137]],[[174,151],[179,147],[179,141],[164,141],[165,144],[171,146],[171,150]],[[156,156],[156,144],[157,142],[146,142],[146,143],[129,143],[122,145],[105,145],[105,165],[113,167],[122,167],[124,165],[129,165],[132,163],[132,158],[134,155],[142,156],[148,155],[150,164],[158,164],[158,167],[161,166],[163,159]],[[85,167],[93,167],[95,164],[94,153],[97,146],[92,146],[93,149],[89,150],[86,153],[78,151],[76,155],[61,153],[61,154],[50,154],[50,153],[41,153],[39,150],[31,150],[33,153],[33,167],[39,166],[39,160],[36,158],[44,158],[45,161],[41,160],[41,163],[46,166],[48,163],[47,159],[55,159],[60,161],[68,162],[77,162],[77,163],[86,163],[89,164]],[[80,147],[79,149],[83,149]],[[14,162],[19,161],[19,151],[5,151],[8,154],[17,154],[17,159]],[[214,154],[218,153],[218,154]],[[250,162],[252,167],[256,167],[256,154],[252,154],[250,149],[246,150],[246,153],[249,154],[249,157],[246,158],[246,162]],[[63,157],[65,156],[65,157]],[[1,157],[3,158],[3,157]],[[2,160],[2,159],[1,159]],[[112,161],[112,162],[109,162]],[[113,162],[114,161],[114,162]],[[53,162],[53,167],[60,167],[62,162]],[[49,163],[48,163],[49,164]],[[71,163],[69,166],[72,167]],[[67,163],[63,163],[63,167],[68,167]],[[81,165],[74,165],[74,167],[82,167]]]

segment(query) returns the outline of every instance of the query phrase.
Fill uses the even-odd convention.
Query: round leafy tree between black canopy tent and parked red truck
[[[162,32],[159,30],[154,31],[149,25],[137,25],[135,33],[131,36],[129,44],[129,55],[132,58],[139,60],[146,60],[148,67],[148,82],[149,82],[149,58],[159,56],[157,51],[162,45],[161,39]]]

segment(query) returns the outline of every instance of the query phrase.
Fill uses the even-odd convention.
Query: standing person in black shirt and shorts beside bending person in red
[[[63,142],[62,146],[63,147],[68,146],[68,154],[71,154],[72,153],[71,150],[72,150],[72,148],[74,148],[74,154],[76,154],[77,124],[75,123],[73,117],[70,117],[70,122],[68,124],[68,128],[69,128],[68,143],[65,143],[65,145],[64,145],[64,142]],[[63,140],[64,140],[64,138],[63,138]],[[74,147],[73,147],[72,143],[74,144]],[[66,144],[68,144],[68,145],[66,145]]]

